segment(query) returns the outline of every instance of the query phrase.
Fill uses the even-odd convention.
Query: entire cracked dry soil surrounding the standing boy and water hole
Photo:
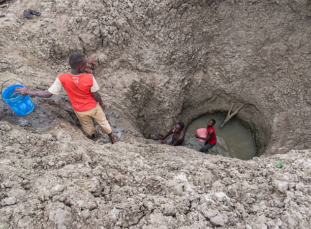
[[[1,82],[46,90],[71,53],[92,57],[122,141],[87,139],[64,91],[27,117],[1,103],[0,228],[311,227],[309,2],[6,3]],[[143,137],[232,102],[253,160]]]

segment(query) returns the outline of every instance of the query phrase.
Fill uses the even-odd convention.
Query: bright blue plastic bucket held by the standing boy
[[[7,81],[5,81],[4,83],[6,82]],[[2,99],[12,108],[12,110],[14,111],[14,113],[16,113],[16,115],[18,116],[28,115],[28,113],[34,110],[35,105],[32,99],[30,99],[29,95],[21,95],[21,94],[14,95],[14,90],[16,87],[23,88],[24,86],[20,84],[15,84],[7,87],[4,91],[2,91],[1,88]]]

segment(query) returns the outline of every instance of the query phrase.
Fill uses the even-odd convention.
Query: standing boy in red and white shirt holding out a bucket
[[[112,144],[117,142],[118,137],[111,131],[103,112],[105,104],[98,92],[99,86],[92,74],[83,73],[86,67],[86,59],[81,54],[72,54],[69,57],[69,64],[71,72],[58,75],[48,90],[32,91],[26,87],[17,87],[15,94],[49,98],[53,94],[59,94],[60,89],[64,87],[85,134],[98,138],[91,119],[94,118],[100,125],[102,132],[108,134]]]

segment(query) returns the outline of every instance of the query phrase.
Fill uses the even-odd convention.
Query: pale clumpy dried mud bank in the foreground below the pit
[[[0,228],[309,228],[310,150],[251,161],[0,123]],[[276,167],[282,161],[283,168]]]

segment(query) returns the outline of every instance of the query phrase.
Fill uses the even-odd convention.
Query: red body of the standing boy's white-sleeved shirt
[[[97,101],[90,91],[90,88],[93,86],[92,74],[72,75],[70,73],[62,73],[58,75],[58,80],[63,84],[74,110],[81,112],[96,106]]]

